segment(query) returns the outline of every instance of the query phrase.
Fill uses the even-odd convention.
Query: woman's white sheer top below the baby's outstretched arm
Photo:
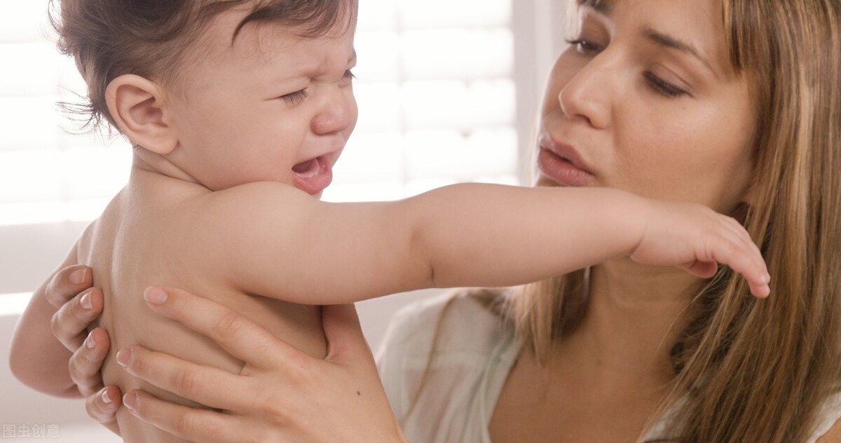
[[[439,322],[442,336],[436,342],[436,358],[409,414]],[[401,309],[389,325],[377,361],[385,393],[409,441],[490,443],[491,414],[520,350],[510,328],[476,298],[448,294]],[[814,443],[841,417],[841,394],[829,398],[824,410],[815,432],[803,443]],[[664,426],[661,419],[646,439],[661,436]]]

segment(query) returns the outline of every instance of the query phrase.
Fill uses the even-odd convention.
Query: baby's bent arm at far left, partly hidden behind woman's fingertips
[[[20,382],[58,397],[80,397],[81,393],[76,383],[71,380],[67,367],[71,351],[68,351],[50,330],[52,316],[58,309],[45,295],[50,290],[50,285],[63,284],[71,289],[90,285],[91,275],[87,268],[80,267],[76,270],[82,271],[80,273],[67,273],[64,269],[76,263],[77,247],[74,245],[65,261],[58,267],[64,275],[58,275],[58,271],[54,272],[32,294],[29,305],[15,326],[9,351],[9,367]]]

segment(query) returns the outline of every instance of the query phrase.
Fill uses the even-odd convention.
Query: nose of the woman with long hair
[[[583,66],[558,93],[561,110],[568,119],[582,119],[595,129],[611,123],[616,70],[596,56]]]

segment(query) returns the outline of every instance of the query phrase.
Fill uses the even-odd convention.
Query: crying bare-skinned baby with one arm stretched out
[[[135,147],[128,184],[61,265],[96,270],[113,350],[139,344],[241,370],[214,343],[152,314],[141,296],[152,284],[205,294],[313,356],[325,355],[318,304],[508,286],[614,256],[705,277],[727,263],[767,293],[747,233],[697,205],[599,187],[479,184],[398,202],[320,202],[357,119],[356,0],[60,8],[60,46],[87,82],[93,121],[106,119]],[[12,351],[16,375],[54,394],[69,378],[67,353],[49,334],[55,311],[34,298]],[[179,400],[114,363],[103,366],[107,384]],[[118,421],[126,441],[177,441],[124,409]]]

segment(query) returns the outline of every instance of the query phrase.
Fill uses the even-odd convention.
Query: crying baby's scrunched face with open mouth
[[[319,197],[357,122],[351,30],[305,39],[220,14],[193,45],[167,96],[170,160],[213,190],[283,182]]]

